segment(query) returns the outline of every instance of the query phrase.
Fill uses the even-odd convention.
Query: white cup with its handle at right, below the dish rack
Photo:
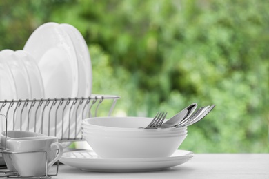
[[[22,177],[46,176],[63,154],[63,146],[54,136],[12,138],[6,145],[12,165]]]

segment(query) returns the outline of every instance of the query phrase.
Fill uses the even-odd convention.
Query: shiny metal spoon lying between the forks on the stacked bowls
[[[166,123],[163,123],[161,125],[161,128],[168,128],[177,125],[181,122],[181,120],[190,116],[196,107],[197,103],[192,103],[191,105],[183,109],[181,112],[177,113],[175,116],[172,116],[172,118],[167,120]]]

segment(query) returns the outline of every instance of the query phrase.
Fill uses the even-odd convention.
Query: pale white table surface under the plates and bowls
[[[56,171],[53,166],[49,173]],[[269,154],[195,154],[192,160],[163,171],[101,173],[59,165],[52,179],[69,178],[269,178]]]

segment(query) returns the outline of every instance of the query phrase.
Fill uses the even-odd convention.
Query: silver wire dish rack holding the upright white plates
[[[84,118],[110,116],[119,96],[92,94],[81,98],[42,98],[0,101],[1,131],[33,131],[57,136],[59,141],[83,140],[81,122]]]

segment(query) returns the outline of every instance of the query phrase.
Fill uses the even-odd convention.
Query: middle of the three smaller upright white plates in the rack
[[[10,50],[8,53],[11,53]],[[3,52],[5,52],[3,50]],[[10,67],[10,71],[12,72],[12,76],[14,78],[14,83],[17,91],[17,98],[15,99],[31,99],[32,98],[32,90],[30,87],[30,79],[28,76],[28,72],[26,70],[25,65],[23,62],[18,58],[17,55],[12,52],[12,54],[6,56],[4,59],[6,63],[8,64],[8,67]],[[11,99],[8,99],[11,100]],[[12,130],[21,130],[21,124],[23,123],[23,120],[27,116],[28,107],[26,106],[26,103],[14,103],[14,109],[16,110],[15,115],[13,115],[13,118],[8,118],[8,129]],[[11,120],[10,120],[11,119]]]

